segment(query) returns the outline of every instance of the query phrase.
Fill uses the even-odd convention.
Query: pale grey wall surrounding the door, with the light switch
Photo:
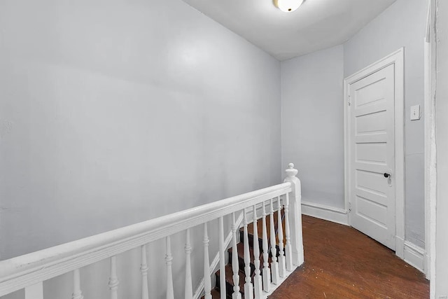
[[[424,248],[423,118],[409,120],[424,99],[427,1],[398,0],[344,44],[344,76],[405,47],[405,238]]]

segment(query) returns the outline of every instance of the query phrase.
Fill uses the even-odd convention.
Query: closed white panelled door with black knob
[[[349,85],[351,226],[395,250],[394,64]]]

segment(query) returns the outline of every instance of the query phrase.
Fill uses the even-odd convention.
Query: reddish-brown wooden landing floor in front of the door
[[[429,298],[429,281],[345,225],[303,216],[305,263],[269,298]]]

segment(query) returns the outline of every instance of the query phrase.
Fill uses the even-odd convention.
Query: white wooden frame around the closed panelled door
[[[344,197],[345,209],[350,216],[350,134],[349,85],[394,64],[395,72],[395,254],[404,258],[405,249],[405,48],[370,64],[344,79]]]

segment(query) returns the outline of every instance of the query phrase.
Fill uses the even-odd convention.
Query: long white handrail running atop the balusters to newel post
[[[0,297],[218,217],[290,193],[292,184],[244,193],[99,235],[0,261]]]

